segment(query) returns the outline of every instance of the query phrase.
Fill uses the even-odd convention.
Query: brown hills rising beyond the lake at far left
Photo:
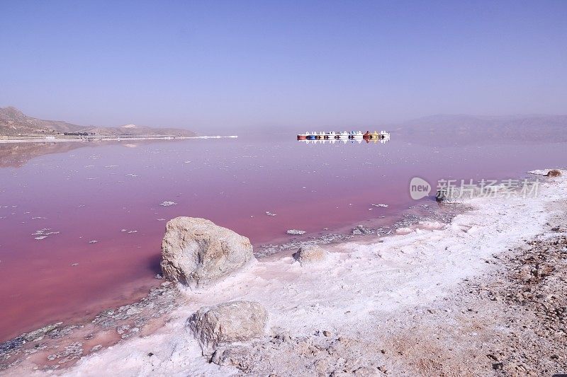
[[[57,134],[94,134],[99,136],[172,136],[193,137],[195,132],[187,129],[153,128],[126,124],[122,127],[87,127],[62,120],[41,120],[29,117],[20,110],[8,107],[0,108],[0,136],[34,136]]]

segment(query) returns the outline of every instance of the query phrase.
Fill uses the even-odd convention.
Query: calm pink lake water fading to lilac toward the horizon
[[[516,178],[564,166],[567,150],[446,144],[393,134],[387,144],[313,145],[283,134],[103,145],[0,168],[0,341],[147,293],[159,283],[159,219],[205,217],[259,245],[290,228],[319,232],[394,218],[415,204],[408,183],[416,175]],[[164,201],[177,204],[161,207]],[[43,228],[60,233],[35,240]]]

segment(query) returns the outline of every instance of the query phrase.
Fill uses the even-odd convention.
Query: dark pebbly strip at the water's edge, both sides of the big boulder
[[[254,250],[257,258],[279,255],[313,245],[335,245],[349,240],[372,242],[376,236],[388,236],[395,229],[418,226],[420,221],[450,220],[466,210],[466,207],[451,206],[433,209],[427,204],[421,206],[421,216],[404,214],[392,226],[373,226],[367,221],[341,231],[324,233],[320,236],[297,238],[284,243],[271,243]],[[161,274],[157,279],[163,279]],[[113,347],[132,336],[147,335],[160,323],[169,320],[167,314],[183,303],[180,292],[174,284],[163,282],[151,289],[145,298],[118,308],[109,308],[87,322],[50,323],[36,330],[23,333],[0,343],[0,374],[4,371],[34,370],[54,371],[74,365],[83,356],[101,349]],[[159,308],[154,313],[153,308]]]

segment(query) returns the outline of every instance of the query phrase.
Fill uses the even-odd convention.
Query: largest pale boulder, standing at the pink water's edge
[[[162,272],[166,279],[203,287],[235,272],[254,259],[250,240],[194,217],[168,221],[162,241]]]

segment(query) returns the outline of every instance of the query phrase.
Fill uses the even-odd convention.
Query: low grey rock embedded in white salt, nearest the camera
[[[221,344],[263,337],[266,321],[266,309],[259,303],[230,301],[199,309],[191,315],[188,325],[204,355],[213,353]]]

